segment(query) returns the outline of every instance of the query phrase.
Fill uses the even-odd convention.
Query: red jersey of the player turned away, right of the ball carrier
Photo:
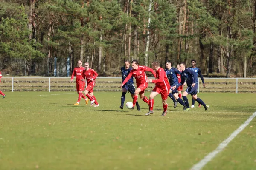
[[[156,83],[156,86],[160,89],[168,91],[170,89],[170,83],[167,78],[166,72],[163,68],[159,68],[156,71],[156,80],[152,80],[153,83]]]

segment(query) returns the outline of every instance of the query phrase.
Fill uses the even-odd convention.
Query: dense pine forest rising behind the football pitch
[[[209,77],[253,77],[256,0],[0,0],[2,74],[52,76],[55,57],[101,76],[195,59]]]

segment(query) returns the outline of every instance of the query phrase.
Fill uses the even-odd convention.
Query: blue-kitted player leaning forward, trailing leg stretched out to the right
[[[186,109],[184,111],[190,111],[189,101],[186,97],[188,94],[191,94],[192,98],[195,101],[197,101],[199,104],[203,105],[205,111],[207,111],[209,108],[209,105],[206,105],[199,97],[197,97],[197,85],[198,84],[196,84],[196,80],[195,80],[196,73],[194,71],[190,70],[189,68],[186,68],[185,62],[180,62],[179,64],[180,64],[180,70],[182,70],[181,82],[178,85],[173,86],[172,89],[180,87],[186,80],[186,84],[188,85],[188,88],[182,94],[183,100],[186,104]]]

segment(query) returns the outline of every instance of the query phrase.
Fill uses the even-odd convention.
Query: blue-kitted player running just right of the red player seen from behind
[[[186,109],[186,104],[183,102],[182,99],[179,98],[178,90],[177,89],[172,89],[173,86],[179,84],[177,74],[180,75],[181,72],[178,71],[177,68],[172,67],[172,63],[169,60],[166,61],[166,70],[165,70],[165,72],[166,72],[167,78],[168,78],[168,80],[170,82],[170,85],[171,85],[170,92],[169,92],[169,97],[171,99],[175,99],[174,108],[176,108],[177,103],[179,102],[181,105],[183,105],[183,110],[185,110]],[[176,101],[176,99],[177,99],[177,101]]]

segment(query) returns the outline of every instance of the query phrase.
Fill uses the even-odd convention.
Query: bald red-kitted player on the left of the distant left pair
[[[79,102],[80,102],[81,98],[85,99],[86,105],[88,104],[88,99],[83,94],[85,82],[84,82],[84,79],[82,77],[82,73],[83,73],[85,68],[82,67],[82,64],[83,63],[82,63],[81,60],[79,60],[77,62],[78,66],[74,68],[74,71],[73,71],[72,76],[71,76],[71,82],[73,82],[74,76],[76,76],[76,91],[77,91],[77,94],[79,94],[78,100],[74,105],[79,105]]]

